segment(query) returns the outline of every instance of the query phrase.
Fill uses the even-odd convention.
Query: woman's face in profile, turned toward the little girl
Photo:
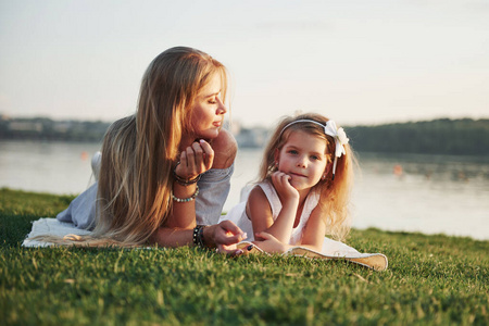
[[[214,139],[220,134],[227,108],[221,101],[221,76],[214,74],[192,104],[191,126],[196,138]]]

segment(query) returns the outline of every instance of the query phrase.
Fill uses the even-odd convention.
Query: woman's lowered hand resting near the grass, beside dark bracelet
[[[236,224],[230,221],[223,221],[220,224],[204,228],[204,241],[210,247],[215,247],[217,252],[230,255],[238,255],[242,250],[236,248],[236,243],[247,238]]]

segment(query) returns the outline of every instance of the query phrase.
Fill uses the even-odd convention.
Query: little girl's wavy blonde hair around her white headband
[[[353,163],[355,162],[353,151],[348,143],[344,145],[347,154],[338,158],[335,179],[333,180],[331,166],[336,150],[335,139],[325,134],[324,127],[312,122],[298,122],[284,129],[288,124],[299,120],[315,121],[322,125],[326,125],[328,122],[327,117],[317,113],[304,113],[283,118],[265,148],[259,179],[261,181],[269,180],[272,173],[277,171],[275,152],[281,150],[293,131],[300,130],[323,139],[326,142],[327,175],[325,179],[319,180],[313,187],[313,190],[319,191],[319,205],[323,211],[327,212],[327,215],[324,216],[327,233],[338,240],[344,240],[350,231],[349,202],[353,185]]]

